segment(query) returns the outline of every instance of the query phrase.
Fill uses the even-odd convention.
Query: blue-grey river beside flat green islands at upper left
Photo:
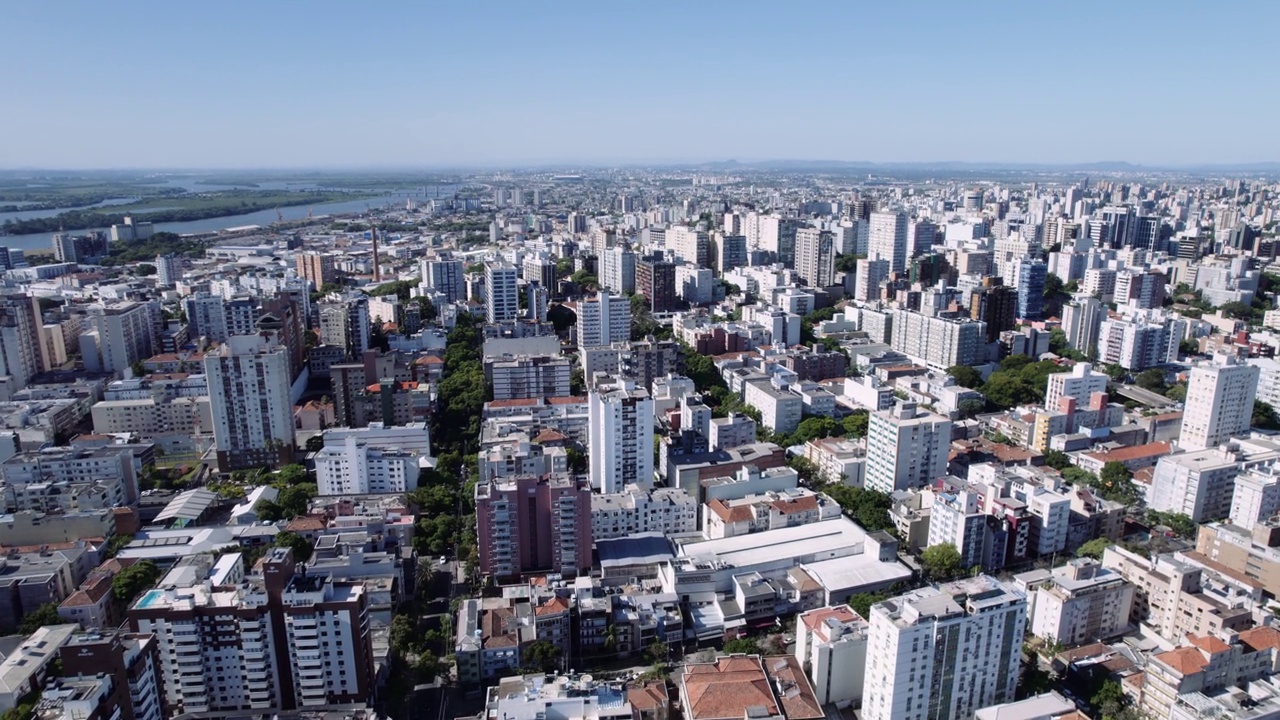
[[[265,183],[264,183],[265,184]],[[202,186],[209,187],[209,186]],[[312,215],[344,215],[351,213],[364,213],[367,209],[378,209],[383,206],[404,208],[406,199],[413,199],[419,202],[425,200],[431,200],[436,197],[436,191],[439,191],[439,197],[451,197],[456,191],[461,190],[462,186],[457,184],[444,184],[444,186],[430,186],[424,192],[422,190],[408,190],[397,191],[388,195],[379,195],[378,197],[367,197],[364,200],[340,200],[337,202],[320,202],[317,205],[289,205],[287,208],[280,208],[280,215],[285,220],[301,220],[307,217],[307,213]],[[44,213],[56,215],[58,211]],[[141,214],[141,213],[140,213]],[[36,215],[40,217],[40,215]],[[182,223],[156,223],[156,232],[172,232],[178,234],[200,234],[211,233],[218,231],[224,231],[227,228],[238,228],[243,225],[269,225],[276,220],[275,209],[259,210],[256,213],[244,213],[241,215],[224,215],[221,218],[205,218],[204,220],[187,220]],[[0,220],[3,222],[3,220]],[[87,233],[91,231],[106,232],[108,228],[91,228],[81,231],[68,231],[73,234]],[[41,232],[41,233],[28,233],[28,234],[0,234],[0,246],[14,247],[18,250],[52,250],[55,232]]]

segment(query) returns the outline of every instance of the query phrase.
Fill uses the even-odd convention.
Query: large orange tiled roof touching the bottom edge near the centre
[[[686,665],[681,682],[689,697],[689,720],[739,720],[750,707],[778,715],[773,688],[758,657],[735,655],[713,664]]]

